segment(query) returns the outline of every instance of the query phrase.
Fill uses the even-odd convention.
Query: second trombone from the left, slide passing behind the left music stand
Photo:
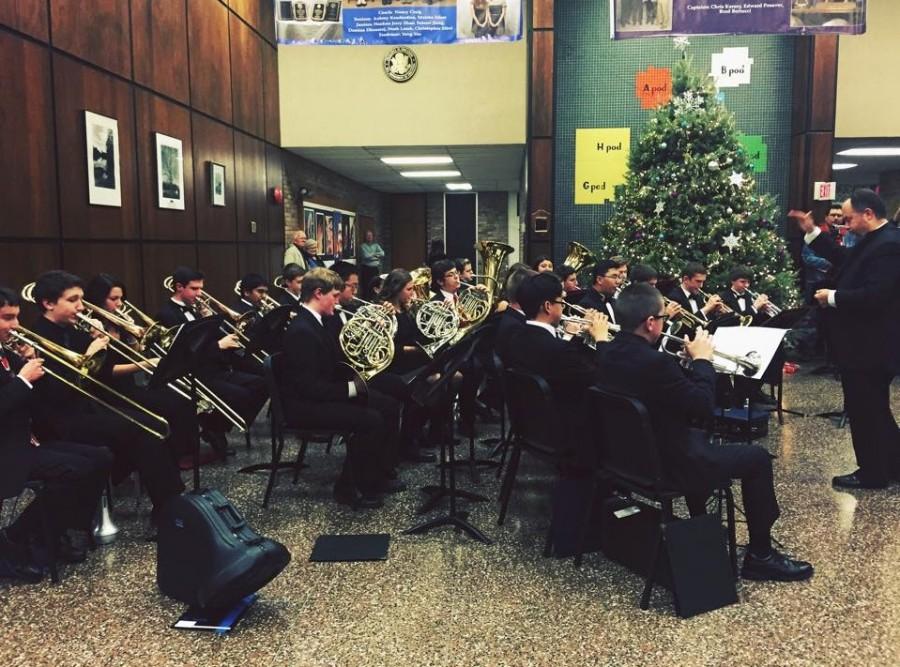
[[[122,316],[123,313],[118,313],[118,314],[110,313],[108,310],[100,308],[99,306],[95,306],[94,304],[90,303],[89,301],[82,300],[82,303],[84,303],[85,308],[95,318],[105,320],[106,322],[108,322],[109,324],[112,324],[114,326],[122,326],[123,323],[126,325],[128,324],[128,321],[126,320],[126,318]],[[133,306],[132,306],[132,308],[133,308]],[[135,311],[140,312],[137,309],[135,309]],[[150,322],[149,326],[146,329],[146,333],[141,338],[141,340],[142,341],[148,340],[147,333],[149,333],[151,331],[154,331],[154,330],[163,331],[164,336],[161,338],[161,341],[165,340],[168,342],[168,345],[171,345],[172,340],[174,339],[175,332],[173,332],[172,330],[165,329],[158,322],[154,322],[153,320],[150,320],[143,313],[141,313],[141,315],[143,315],[143,317],[146,318],[147,320],[149,320],[149,322]],[[78,314],[78,320],[84,328],[96,329],[97,331],[99,331],[100,333],[102,333],[104,335],[106,335],[106,333],[107,333],[105,329],[103,329],[102,327],[98,327],[91,320],[90,317],[87,317],[86,315],[84,315],[82,313]],[[129,326],[131,328],[135,328],[133,321],[131,322],[131,324]],[[173,329],[177,329],[177,328],[178,327],[173,327]],[[125,330],[129,331],[129,329],[125,329]],[[129,333],[131,333],[131,332],[129,331]],[[132,364],[138,366],[139,368],[144,370],[148,375],[153,375],[154,363],[151,359],[149,359],[142,353],[142,350],[136,350],[136,349],[132,348],[130,345],[128,345],[127,343],[125,343],[121,340],[118,340],[112,336],[109,337],[109,345],[111,345],[112,348],[116,352],[118,352],[120,355],[122,355],[122,357],[124,357],[129,363],[132,363]],[[152,349],[154,352],[156,352],[160,356],[165,356],[166,348],[168,347],[168,345],[163,344],[163,342],[154,342],[152,344],[147,345],[147,347],[142,348],[142,349],[143,350]],[[237,412],[235,412],[227,403],[225,403],[225,401],[223,401],[219,396],[214,394],[209,389],[209,387],[207,387],[205,384],[203,384],[199,380],[195,380],[194,382],[196,383],[196,387],[197,387],[197,412],[198,413],[203,414],[203,413],[207,413],[207,412],[216,411],[216,412],[220,413],[223,417],[225,417],[225,419],[227,419],[229,422],[231,422],[235,426],[235,428],[237,428],[239,431],[247,430],[247,424],[244,421],[244,419]],[[178,394],[182,398],[191,400],[191,387],[190,387],[189,380],[186,380],[184,378],[179,378],[179,379],[175,380],[174,382],[169,382],[167,386],[169,387],[169,389],[174,391],[176,394]]]

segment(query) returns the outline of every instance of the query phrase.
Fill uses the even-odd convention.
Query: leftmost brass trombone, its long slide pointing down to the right
[[[29,292],[30,294],[30,292]],[[107,386],[105,383],[101,382],[97,378],[91,375],[92,372],[96,372],[102,366],[102,363],[98,363],[98,358],[102,361],[102,357],[99,355],[84,355],[78,354],[77,352],[73,352],[72,350],[66,349],[62,345],[57,345],[51,340],[44,338],[43,336],[38,336],[36,333],[29,331],[25,327],[19,327],[18,329],[13,329],[10,331],[10,335],[13,339],[18,342],[20,345],[27,345],[29,347],[34,348],[35,352],[39,352],[45,359],[49,359],[54,363],[59,364],[63,368],[66,368],[73,373],[75,373],[78,380],[72,381],[64,377],[61,373],[57,373],[56,371],[47,368],[44,366],[44,372],[52,377],[55,380],[58,380],[62,384],[66,385],[70,389],[75,392],[78,392],[82,396],[86,396],[87,398],[99,403],[107,410],[115,412],[117,415],[122,417],[132,424],[139,426],[142,430],[152,435],[154,438],[158,440],[165,440],[169,437],[169,422],[160,417],[155,412],[151,412],[140,403],[130,399],[128,396],[124,394],[120,394],[112,387]],[[11,352],[19,354],[19,352],[15,349],[13,345],[5,346]],[[20,355],[21,356],[21,355]],[[135,419],[131,415],[129,415],[124,410],[119,409],[112,403],[105,401],[99,396],[95,396],[87,389],[81,386],[80,382],[89,381],[94,384],[98,389],[102,391],[106,391],[111,395],[115,396],[117,399],[124,401],[128,406],[134,408],[141,414],[145,415],[150,419],[151,422],[155,422],[157,424],[156,428],[152,426],[148,426],[144,424],[141,420]]]

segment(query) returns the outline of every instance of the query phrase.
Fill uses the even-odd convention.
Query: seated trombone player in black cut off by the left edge
[[[86,554],[66,531],[90,530],[113,459],[105,447],[34,437],[38,411],[32,394],[34,385],[44,381],[44,361],[34,358],[32,349],[15,346],[10,332],[19,326],[19,306],[19,296],[0,287],[0,498],[19,493],[29,480],[42,481],[45,488],[11,525],[0,529],[0,578],[36,583],[43,570],[40,554],[36,558],[29,543],[44,539],[42,515],[50,518],[58,557],[84,560]]]

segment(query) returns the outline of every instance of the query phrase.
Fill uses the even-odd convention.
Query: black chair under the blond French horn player
[[[263,496],[263,507],[269,506],[269,498],[275,487],[275,478],[279,470],[293,470],[294,484],[300,476],[300,469],[305,467],[303,462],[306,449],[310,442],[327,443],[330,447],[332,440],[340,436],[345,440],[351,436],[351,431],[344,429],[306,429],[288,424],[284,413],[284,403],[281,399],[281,387],[279,377],[283,352],[276,352],[266,357],[263,370],[266,377],[266,386],[269,390],[269,437],[272,443],[272,460],[269,463],[256,463],[238,470],[238,472],[252,473],[259,471],[269,472],[269,481],[266,484],[266,492]],[[282,462],[281,455],[284,451],[284,439],[286,435],[293,435],[300,440],[300,449],[297,459],[293,463]]]

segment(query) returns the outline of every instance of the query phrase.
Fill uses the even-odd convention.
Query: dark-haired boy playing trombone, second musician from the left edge
[[[107,340],[75,328],[78,315],[84,310],[81,280],[65,271],[41,274],[34,286],[34,298],[41,309],[41,317],[34,325],[34,333],[79,354],[92,355],[105,349]],[[100,379],[108,379],[112,358],[104,363]],[[47,361],[48,368],[65,378],[74,373],[59,364]],[[131,409],[123,412],[133,421],[108,411],[71,387],[45,378],[38,385],[41,406],[37,420],[39,438],[59,438],[88,445],[108,447],[113,453],[113,481],[118,482],[137,470],[153,502],[151,518],[173,496],[184,490],[184,484],[165,442],[146,433],[138,422],[140,417]]]

